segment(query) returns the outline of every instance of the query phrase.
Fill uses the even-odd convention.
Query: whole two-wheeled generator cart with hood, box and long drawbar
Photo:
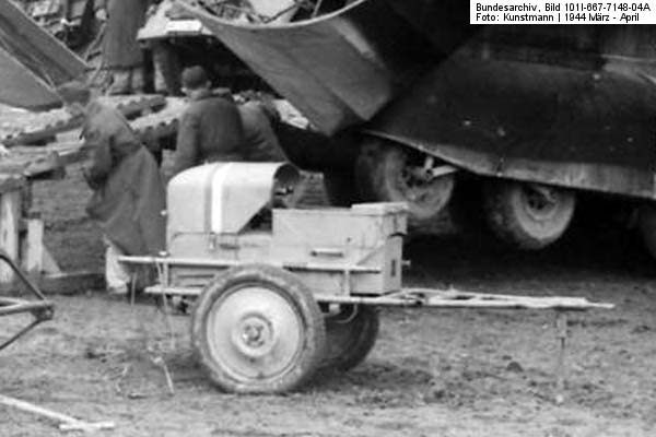
[[[302,187],[288,164],[188,169],[168,185],[166,252],[121,257],[156,267],[147,293],[197,298],[192,345],[221,389],[284,392],[318,368],[358,365],[375,343],[378,306],[557,309],[562,346],[562,310],[612,307],[403,288],[405,204],[293,208]]]

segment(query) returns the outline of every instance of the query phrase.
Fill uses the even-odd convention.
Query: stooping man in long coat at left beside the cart
[[[165,194],[157,165],[122,115],[91,99],[84,84],[71,82],[58,92],[71,114],[84,116],[82,135],[91,155],[84,177],[93,190],[86,211],[105,234],[107,286],[127,293],[130,272],[117,257],[157,256],[165,247]]]

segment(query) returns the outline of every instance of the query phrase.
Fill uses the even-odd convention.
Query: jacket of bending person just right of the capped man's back
[[[280,147],[278,137],[271,128],[269,118],[254,102],[239,105],[239,115],[244,125],[243,155],[250,162],[288,161]]]

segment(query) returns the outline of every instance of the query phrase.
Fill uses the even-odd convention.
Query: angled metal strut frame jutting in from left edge
[[[21,270],[16,265],[14,260],[12,260],[11,257],[7,255],[4,250],[0,250],[0,260],[9,264],[9,267],[20,279],[20,281],[26,286],[27,291],[34,297],[36,297],[36,300],[26,300],[16,297],[0,296],[0,317],[30,312],[34,318],[27,326],[19,330],[14,335],[12,335],[11,338],[9,338],[0,344],[0,351],[2,351],[13,342],[19,340],[21,336],[25,335],[37,324],[46,320],[50,320],[54,315],[55,304],[46,299],[46,297],[37,288],[37,286],[30,280],[30,277],[27,277],[23,270]]]

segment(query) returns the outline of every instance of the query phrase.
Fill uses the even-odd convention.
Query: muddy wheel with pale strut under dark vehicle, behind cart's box
[[[409,162],[417,157],[413,153],[411,149],[389,141],[368,139],[355,163],[355,181],[364,201],[406,202],[409,223],[422,226],[434,222],[448,203],[454,175],[410,182]]]

